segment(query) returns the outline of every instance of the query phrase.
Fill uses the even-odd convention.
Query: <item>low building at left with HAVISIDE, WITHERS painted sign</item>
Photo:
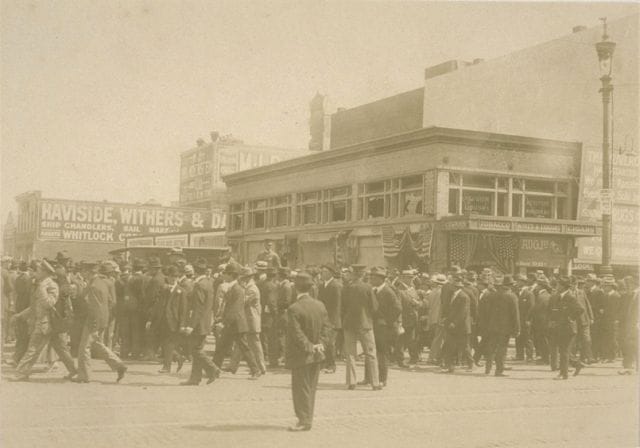
[[[18,217],[15,230],[4,229],[5,247],[24,260],[55,257],[66,250],[74,260],[109,258],[108,252],[125,246],[128,237],[157,235],[178,241],[176,233],[224,230],[224,212],[163,207],[146,204],[76,201],[43,198],[40,191],[16,197]],[[166,244],[169,244],[168,242]]]

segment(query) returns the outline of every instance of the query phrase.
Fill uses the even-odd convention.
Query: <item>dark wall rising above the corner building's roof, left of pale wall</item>
[[[422,127],[422,88],[331,115],[331,148]]]

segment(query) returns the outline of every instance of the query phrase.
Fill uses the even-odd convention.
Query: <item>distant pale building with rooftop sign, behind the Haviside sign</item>
[[[247,145],[212,132],[210,142],[199,139],[195,148],[180,154],[180,205],[226,210],[222,176],[306,153],[301,149]]]

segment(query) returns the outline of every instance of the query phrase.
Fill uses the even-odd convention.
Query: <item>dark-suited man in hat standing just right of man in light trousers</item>
[[[373,321],[373,335],[376,342],[376,356],[378,357],[378,375],[380,385],[383,387],[387,385],[389,376],[387,359],[398,336],[400,315],[402,314],[400,299],[385,282],[386,278],[387,270],[384,268],[374,267],[369,273],[369,282],[373,286],[373,295],[378,303],[378,310]],[[370,381],[370,374],[365,376]]]

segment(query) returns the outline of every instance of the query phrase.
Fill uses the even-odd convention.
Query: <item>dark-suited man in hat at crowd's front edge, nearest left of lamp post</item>
[[[578,332],[577,321],[584,310],[571,293],[570,286],[568,278],[560,278],[558,291],[549,299],[549,349],[552,357],[560,353],[560,374],[555,378],[558,380],[569,377],[569,363],[576,369],[574,375],[578,375],[583,367],[571,356],[571,346]]]

